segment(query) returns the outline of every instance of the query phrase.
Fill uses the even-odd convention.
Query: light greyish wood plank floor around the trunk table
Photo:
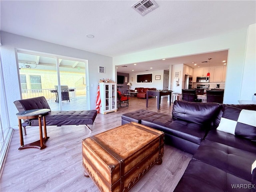
[[[129,107],[118,112],[98,114],[92,132],[80,126],[48,126],[46,148],[18,150],[19,131],[14,130],[0,182],[1,192],[97,192],[90,178],[84,177],[82,139],[121,125],[121,114],[146,109],[146,100],[131,98]],[[171,114],[172,106],[163,98],[160,110],[156,98],[149,99],[148,110]],[[38,127],[28,127],[24,143],[38,140]],[[155,165],[130,190],[132,192],[172,192],[192,155],[172,146],[164,146],[161,165]]]

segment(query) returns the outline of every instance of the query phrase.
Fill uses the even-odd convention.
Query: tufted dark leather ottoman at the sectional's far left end
[[[150,110],[137,110],[134,112],[122,114],[122,125],[130,122],[136,122],[136,123],[141,123],[141,120],[146,117],[150,117],[154,114],[157,114],[157,112],[153,112]]]

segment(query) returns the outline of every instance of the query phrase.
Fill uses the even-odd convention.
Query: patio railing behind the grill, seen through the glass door
[[[76,87],[76,88],[70,88],[70,89],[74,89],[74,91],[69,92],[70,100],[76,100],[76,96],[86,96],[85,87]],[[50,92],[51,90],[55,90],[55,89],[22,90],[22,99],[44,96],[48,103],[55,102],[57,93]]]

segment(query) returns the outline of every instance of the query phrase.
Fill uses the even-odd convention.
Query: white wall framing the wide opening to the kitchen
[[[238,100],[242,99],[240,97],[240,92],[242,88],[242,77],[246,75],[245,73],[243,73],[246,51],[245,47],[247,40],[246,38],[247,28],[243,28],[220,36],[214,36],[211,38],[200,39],[192,42],[186,42],[182,44],[176,44],[143,52],[127,54],[124,56],[114,57],[113,67],[116,65],[159,60],[162,58],[172,58],[219,50],[229,50],[224,103],[238,104]],[[254,64],[248,63],[246,64],[246,68],[253,68],[254,65],[255,62]],[[243,90],[247,90],[250,88],[251,86],[249,84],[243,84]]]

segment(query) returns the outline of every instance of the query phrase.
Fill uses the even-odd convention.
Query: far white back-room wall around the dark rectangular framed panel
[[[150,74],[150,73],[152,73],[152,82],[151,83],[137,83],[136,82],[137,74]],[[156,75],[161,76],[160,80],[155,80]],[[132,81],[132,78],[133,78],[133,81]],[[144,87],[144,88],[156,88],[157,90],[162,90],[163,84],[164,84],[164,70],[130,73],[129,74],[129,82],[132,83],[131,89],[135,89],[136,87]]]

